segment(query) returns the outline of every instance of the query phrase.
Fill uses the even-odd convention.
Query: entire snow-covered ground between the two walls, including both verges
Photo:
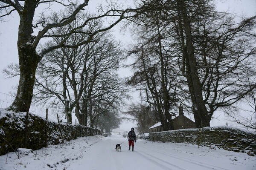
[[[256,170],[256,156],[246,153],[142,139],[131,152],[126,139],[115,134],[78,138],[19,159],[13,152],[0,156],[0,170]]]

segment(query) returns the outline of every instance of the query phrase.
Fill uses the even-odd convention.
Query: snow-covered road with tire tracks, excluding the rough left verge
[[[134,152],[128,151],[128,141],[121,144],[121,152],[114,149],[125,138],[111,135],[96,143],[81,164],[70,166],[88,170],[245,170],[242,164],[236,164],[241,155],[224,150],[210,150],[190,144],[163,144],[146,140],[135,143]],[[223,152],[221,152],[223,151]],[[246,154],[242,154],[247,158]],[[255,158],[252,157],[255,160]],[[246,160],[244,160],[246,161]],[[254,162],[256,164],[256,162]],[[253,165],[252,165],[253,166]],[[70,168],[70,169],[72,169]],[[247,169],[250,169],[248,166]],[[253,169],[253,168],[252,168]],[[255,166],[256,169],[256,166]],[[254,169],[254,170],[255,170]]]

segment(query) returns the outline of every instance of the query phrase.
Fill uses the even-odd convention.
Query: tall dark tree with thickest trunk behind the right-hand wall
[[[177,80],[186,86],[179,86],[178,91],[184,89],[183,94],[176,93],[175,97],[191,102],[197,127],[209,126],[217,109],[233,107],[256,88],[253,59],[256,54],[256,16],[235,22],[231,14],[216,12],[212,0],[146,0],[140,5],[148,8],[133,21],[143,28],[145,24],[161,28],[162,47],[169,49],[166,55],[177,58],[172,61],[177,66],[166,70],[178,68],[180,71],[175,72],[179,77]],[[145,22],[145,18],[151,20]],[[156,20],[159,26],[154,24]],[[149,36],[143,38],[147,40]],[[145,64],[152,64],[152,60]],[[243,70],[250,70],[250,74],[244,74]]]

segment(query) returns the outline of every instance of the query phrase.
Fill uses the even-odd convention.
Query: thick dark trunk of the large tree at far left
[[[20,15],[17,48],[19,55],[20,80],[14,102],[8,108],[14,112],[26,112],[30,108],[35,83],[35,70],[41,58],[32,47],[35,37],[32,36],[32,21],[37,2],[31,1],[25,6]]]

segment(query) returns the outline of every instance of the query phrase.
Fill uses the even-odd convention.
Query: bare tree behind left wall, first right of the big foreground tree
[[[52,22],[56,22],[60,17],[65,17],[68,12],[72,11],[66,10],[65,13],[53,14],[51,16]],[[61,35],[76,28],[89,17],[90,15],[78,14],[75,22],[54,30],[55,32],[51,34],[60,35],[60,37],[56,36],[46,46],[60,43],[63,40]],[[87,32],[95,31],[96,27],[100,27],[98,21],[88,22],[87,28],[78,29],[76,33],[70,35],[66,43],[73,45],[81,43],[88,38]],[[52,50],[41,60],[37,69],[35,100],[43,100],[43,103],[47,103],[50,98],[55,96],[52,104],[64,108],[68,122],[72,122],[72,110],[79,102],[84,90],[84,74],[87,71],[87,65],[84,63],[87,63],[88,56],[90,56],[90,46],[93,44],[95,43],[88,42],[77,48],[62,47]]]

